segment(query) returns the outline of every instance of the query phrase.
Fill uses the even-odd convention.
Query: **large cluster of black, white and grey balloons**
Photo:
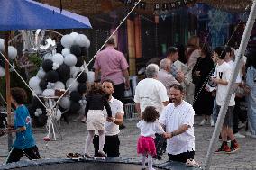
[[[56,51],[43,56],[43,62],[37,75],[29,81],[35,94],[55,96],[56,90],[69,88],[68,95],[62,97],[59,102],[60,110],[78,112],[82,108],[81,106],[86,105],[83,94],[87,92],[88,70],[83,57],[87,56],[89,46],[90,40],[86,35],[77,32],[64,35],[60,43],[57,43]],[[89,75],[93,76],[91,73]],[[75,80],[76,78],[77,80]],[[92,77],[89,79],[91,80]],[[33,98],[33,100],[35,99]],[[41,108],[39,103],[32,102],[31,108],[35,117],[40,118],[45,114],[45,109]],[[41,111],[37,110],[38,108],[41,108]],[[57,112],[56,119],[61,117],[60,110]]]

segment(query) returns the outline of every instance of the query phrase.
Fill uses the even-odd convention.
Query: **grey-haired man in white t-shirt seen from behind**
[[[159,67],[150,64],[146,67],[147,78],[136,86],[134,102],[136,111],[141,115],[147,106],[154,106],[161,113],[164,106],[169,104],[169,98],[165,86],[157,80]]]

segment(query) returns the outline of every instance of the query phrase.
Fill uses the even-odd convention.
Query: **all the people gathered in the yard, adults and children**
[[[96,56],[96,81],[87,93],[88,136],[84,150],[87,158],[91,157],[88,153],[90,143],[94,144],[96,157],[120,155],[119,126],[123,124],[124,90],[130,88],[130,80],[128,63],[123,53],[114,49],[114,44],[111,38]],[[137,123],[141,130],[137,151],[142,155],[142,169],[146,168],[148,157],[149,169],[153,170],[153,158],[160,158],[162,149],[166,149],[169,160],[197,166],[194,160],[194,116],[202,115],[199,125],[210,122],[215,126],[224,105],[236,60],[235,49],[225,46],[211,51],[206,45],[200,47],[198,37],[193,36],[188,40],[184,54],[181,52],[177,47],[170,47],[160,66],[149,64],[146,77],[136,86],[134,103],[141,118]],[[186,58],[181,59],[179,55]],[[256,59],[251,56],[247,60],[244,57],[233,85],[220,134],[223,142],[215,153],[234,153],[240,149],[236,138],[245,136],[238,131],[239,122],[247,122],[246,135],[256,138]],[[16,110],[14,130],[10,132],[16,132],[17,139],[7,163],[18,161],[23,153],[30,159],[40,158],[32,137],[30,117],[23,105],[24,98],[23,90],[12,90]],[[247,114],[243,112],[246,108]]]

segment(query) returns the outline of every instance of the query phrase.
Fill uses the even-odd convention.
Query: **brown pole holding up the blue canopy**
[[[9,40],[9,31],[5,33],[5,58],[9,61],[8,57],[8,40]],[[8,128],[11,128],[12,119],[11,119],[11,89],[10,89],[10,69],[9,63],[5,62],[5,83],[6,83],[6,103],[7,103],[7,124]],[[8,133],[8,150],[10,151],[13,145],[13,136],[12,133]]]

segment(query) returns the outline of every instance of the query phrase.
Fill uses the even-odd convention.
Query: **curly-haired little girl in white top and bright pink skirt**
[[[146,157],[148,157],[149,170],[154,170],[152,157],[157,155],[154,142],[155,134],[165,133],[158,121],[159,117],[160,114],[156,111],[155,107],[148,106],[142,112],[142,121],[137,123],[137,127],[141,129],[137,152],[138,154],[142,154],[142,170],[146,169]]]

